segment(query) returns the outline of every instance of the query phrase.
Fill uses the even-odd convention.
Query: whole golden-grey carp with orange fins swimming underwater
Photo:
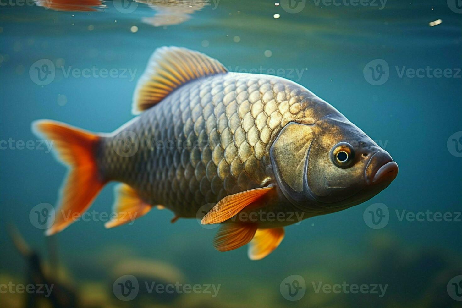
[[[117,215],[107,228],[166,208],[172,222],[220,223],[218,251],[249,244],[249,259],[260,260],[280,245],[284,227],[359,205],[398,174],[387,151],[304,86],[229,72],[187,48],[155,50],[132,111],[136,117],[112,133],[32,123],[69,166],[58,205],[65,214],[47,235],[117,181]]]

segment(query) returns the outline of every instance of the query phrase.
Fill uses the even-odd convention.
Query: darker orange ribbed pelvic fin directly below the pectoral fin
[[[226,223],[218,230],[213,247],[218,251],[239,248],[252,240],[256,230],[256,224]]]

